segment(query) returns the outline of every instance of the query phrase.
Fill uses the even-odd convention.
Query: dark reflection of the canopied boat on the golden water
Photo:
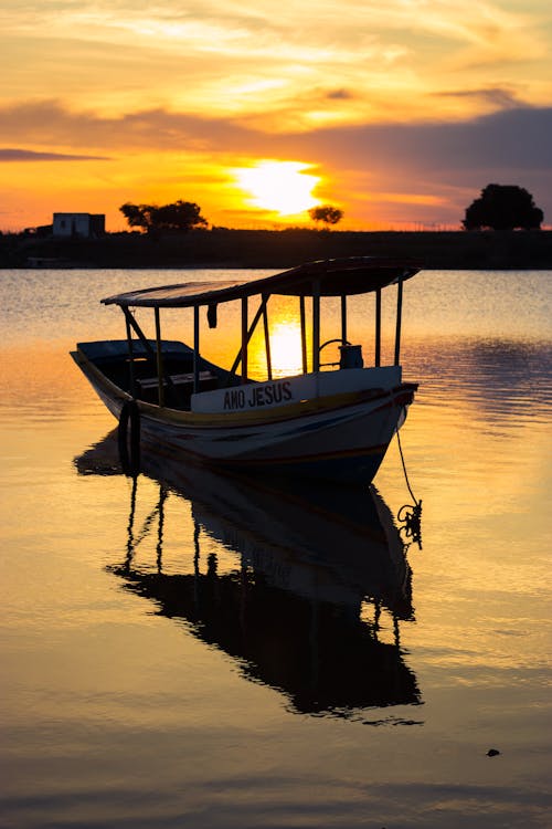
[[[113,434],[76,465],[88,474],[120,472]],[[365,709],[421,703],[400,643],[400,625],[414,619],[411,568],[375,490],[289,481],[279,487],[171,468],[152,455],[142,458],[142,472],[159,484],[157,503],[144,523],[137,520],[135,478],[126,556],[108,567],[126,589],[185,620],[245,678],[284,693],[296,712],[357,718]],[[173,556],[163,563],[173,497],[189,502],[193,520],[193,554],[185,545],[188,566],[177,569]],[[147,533],[156,536],[155,560],[144,563],[140,553],[138,562]]]

